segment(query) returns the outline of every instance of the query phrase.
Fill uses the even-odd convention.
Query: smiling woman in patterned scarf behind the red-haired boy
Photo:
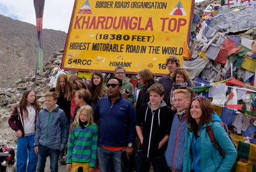
[[[174,95],[173,92],[176,89],[187,89],[191,93],[191,98],[195,97],[195,92],[194,90],[187,86],[186,80],[189,79],[189,74],[187,73],[186,69],[183,68],[176,68],[175,71],[172,72],[172,75],[170,76],[173,80],[173,85],[172,89],[170,90],[170,95],[169,95],[169,103],[170,107],[172,107],[173,110],[176,110],[176,108],[173,106],[174,105]]]

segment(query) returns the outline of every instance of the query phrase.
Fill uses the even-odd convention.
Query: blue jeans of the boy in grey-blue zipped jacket
[[[50,157],[51,172],[58,172],[59,150],[49,149],[47,147],[42,146],[41,144],[39,144],[38,149],[39,151],[38,151],[37,172],[44,172],[47,156]]]

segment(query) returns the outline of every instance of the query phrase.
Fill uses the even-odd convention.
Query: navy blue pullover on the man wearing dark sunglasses
[[[102,97],[94,110],[94,120],[99,120],[99,145],[127,147],[136,137],[136,112],[129,100],[119,94],[113,104],[109,96]]]

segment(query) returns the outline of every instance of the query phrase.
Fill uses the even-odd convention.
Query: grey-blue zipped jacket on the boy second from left
[[[67,117],[58,105],[55,105],[53,111],[45,107],[39,112],[34,145],[41,144],[49,149],[64,149],[68,134]]]

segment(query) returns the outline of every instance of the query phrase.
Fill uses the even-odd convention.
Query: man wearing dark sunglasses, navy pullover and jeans
[[[99,121],[99,168],[104,172],[122,172],[123,151],[129,159],[133,153],[132,143],[136,137],[136,112],[130,101],[120,94],[122,80],[112,78],[106,84],[108,96],[101,98],[94,111]]]

